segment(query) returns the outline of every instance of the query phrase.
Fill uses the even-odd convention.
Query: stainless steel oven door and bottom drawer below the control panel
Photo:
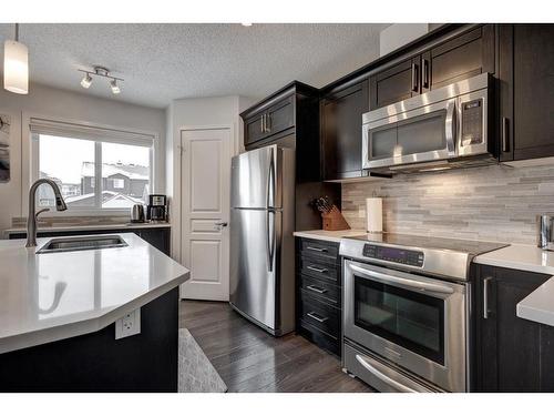
[[[466,390],[465,283],[351,260],[343,262],[343,278],[345,338],[369,352],[353,357],[377,383],[400,392],[433,390],[425,382],[438,389]],[[379,358],[399,372],[387,375]],[[416,377],[402,382],[402,369]],[[417,383],[418,377],[425,382]]]

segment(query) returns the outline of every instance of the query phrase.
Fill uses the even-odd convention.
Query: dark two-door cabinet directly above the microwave
[[[370,77],[371,110],[495,72],[493,24],[479,26]]]

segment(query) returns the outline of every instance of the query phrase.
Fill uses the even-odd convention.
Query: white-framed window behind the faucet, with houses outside
[[[61,124],[61,123],[60,123]],[[153,138],[122,136],[103,131],[57,123],[31,122],[32,177],[49,177],[58,183],[70,211],[129,210],[147,203],[151,193]],[[123,133],[123,134],[122,134]],[[40,186],[39,207],[53,207],[50,186]]]

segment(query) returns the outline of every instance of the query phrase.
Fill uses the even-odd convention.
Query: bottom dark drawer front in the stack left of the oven
[[[300,323],[307,323],[336,337],[340,336],[340,310],[317,301],[300,290]]]

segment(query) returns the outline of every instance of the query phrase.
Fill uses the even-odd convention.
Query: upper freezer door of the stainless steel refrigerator
[[[230,206],[280,209],[283,150],[277,145],[252,150],[233,158]]]

